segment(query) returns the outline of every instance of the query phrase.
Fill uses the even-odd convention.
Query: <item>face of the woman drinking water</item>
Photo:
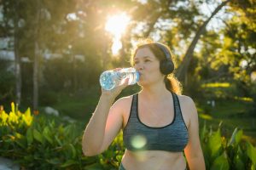
[[[160,61],[148,48],[140,48],[134,56],[134,68],[140,73],[140,85],[162,81],[164,75],[160,72]]]

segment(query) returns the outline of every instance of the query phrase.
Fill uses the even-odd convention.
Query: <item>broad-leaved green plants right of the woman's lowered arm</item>
[[[222,127],[216,132],[201,129],[201,146],[204,152],[207,169],[254,169],[255,147],[247,141],[241,141],[242,130],[236,128],[230,137],[221,135]]]

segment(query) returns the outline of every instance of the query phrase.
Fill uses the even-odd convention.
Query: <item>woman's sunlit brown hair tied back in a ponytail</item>
[[[160,43],[160,42],[157,42],[157,43]],[[165,44],[161,43],[161,45],[165,46],[166,49],[170,52],[172,62],[175,64],[175,61],[173,59],[173,54],[172,54],[170,48],[168,48],[168,46],[166,46]],[[154,41],[152,41],[151,39],[143,39],[143,40],[140,40],[137,43],[136,47],[132,50],[131,65],[134,65],[133,59],[134,59],[134,56],[137,54],[137,50],[140,48],[145,48],[145,47],[148,47],[152,51],[154,56],[157,59],[159,59],[160,61],[163,59],[166,59],[166,54],[155,44]],[[171,74],[166,75],[164,82],[166,84],[166,89],[168,89],[169,91],[171,91],[175,94],[182,94],[182,91],[183,91],[182,84],[174,76],[173,72]]]

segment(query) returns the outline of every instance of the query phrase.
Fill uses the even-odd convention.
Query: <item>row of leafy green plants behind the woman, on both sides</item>
[[[117,169],[124,154],[122,133],[100,156],[83,156],[83,126],[67,124],[61,119],[33,116],[28,108],[18,111],[12,103],[7,114],[0,110],[0,156],[20,164],[22,169]],[[236,128],[228,139],[222,128],[213,131],[201,128],[201,146],[207,169],[255,169],[256,149],[241,140],[242,130]]]

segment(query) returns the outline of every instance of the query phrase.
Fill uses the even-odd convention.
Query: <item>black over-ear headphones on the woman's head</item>
[[[168,75],[168,74],[172,73],[172,71],[174,71],[174,64],[173,64],[172,58],[171,58],[172,54],[164,45],[157,43],[157,42],[155,44],[158,48],[160,48],[164,52],[164,54],[166,56],[166,59],[160,60],[160,71],[162,74]]]

